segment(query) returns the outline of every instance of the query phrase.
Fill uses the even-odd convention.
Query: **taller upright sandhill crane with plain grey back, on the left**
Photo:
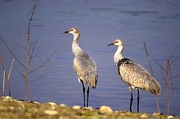
[[[87,107],[89,101],[89,88],[96,88],[98,81],[97,66],[95,61],[84,52],[78,45],[78,40],[80,37],[80,32],[77,28],[71,28],[68,31],[63,32],[70,33],[74,36],[72,42],[72,52],[74,54],[74,70],[77,73],[78,81],[82,83],[83,87],[83,99],[85,107],[85,86],[84,83],[88,85],[87,89]]]

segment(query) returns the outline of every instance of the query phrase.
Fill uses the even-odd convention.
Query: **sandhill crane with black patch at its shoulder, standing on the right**
[[[124,49],[124,43],[122,40],[116,39],[113,43],[109,44],[108,46],[111,45],[115,45],[118,47],[117,51],[114,54],[114,62],[118,68],[118,74],[120,78],[124,83],[128,85],[131,93],[130,111],[132,112],[132,91],[133,89],[137,89],[137,112],[139,112],[139,89],[152,93],[157,98],[158,94],[161,92],[161,86],[144,67],[122,56],[122,51]],[[157,107],[158,111],[160,112],[158,102]]]

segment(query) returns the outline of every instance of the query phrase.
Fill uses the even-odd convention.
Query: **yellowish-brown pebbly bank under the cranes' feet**
[[[19,101],[12,97],[0,98],[0,119],[180,119],[180,116],[159,113],[131,113],[113,111],[108,106],[99,109],[80,106],[68,107],[65,104],[35,101]]]

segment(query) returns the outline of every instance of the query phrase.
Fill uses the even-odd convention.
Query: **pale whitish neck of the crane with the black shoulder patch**
[[[116,64],[116,66],[118,65],[118,62],[123,59],[122,56],[122,51],[123,51],[124,47],[123,46],[119,46],[117,48],[117,51],[114,54],[114,63]]]

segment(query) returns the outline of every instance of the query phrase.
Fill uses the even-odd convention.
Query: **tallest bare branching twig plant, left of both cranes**
[[[52,57],[55,56],[56,54],[58,55],[59,54],[59,49],[64,46],[64,45],[62,45],[61,47],[58,47],[50,55],[47,55],[47,56],[43,57],[42,59],[36,61],[34,64],[32,63],[32,59],[35,56],[34,55],[35,54],[35,47],[36,47],[37,42],[39,41],[39,39],[37,39],[35,41],[32,41],[31,40],[31,34],[30,34],[31,33],[31,22],[33,20],[35,9],[36,9],[36,4],[33,6],[32,10],[30,11],[30,18],[29,18],[27,26],[26,26],[25,22],[23,21],[23,23],[26,26],[26,31],[27,31],[27,41],[22,40],[22,45],[19,44],[19,43],[10,42],[12,44],[15,44],[16,46],[23,47],[23,49],[26,52],[25,53],[25,57],[26,57],[25,61],[21,61],[13,53],[13,50],[10,49],[7,42],[5,42],[5,40],[2,37],[0,37],[0,40],[3,42],[3,44],[5,45],[5,48],[7,49],[6,52],[8,52],[15,60],[17,60],[17,62],[23,68],[23,69],[21,69],[21,68],[17,68],[16,66],[14,66],[16,69],[18,69],[20,75],[25,79],[25,100],[28,99],[29,82],[36,81],[36,80],[42,78],[43,76],[45,76],[47,73],[45,73],[44,75],[42,75],[42,76],[40,76],[38,78],[33,79],[34,75],[41,72],[41,71],[43,71],[47,66],[49,66],[52,63],[52,61],[50,61],[50,59],[52,59]],[[13,27],[13,28],[16,30],[16,32],[18,33],[20,38],[22,38],[21,33],[19,32],[19,30],[17,28],[15,28],[15,27]]]

